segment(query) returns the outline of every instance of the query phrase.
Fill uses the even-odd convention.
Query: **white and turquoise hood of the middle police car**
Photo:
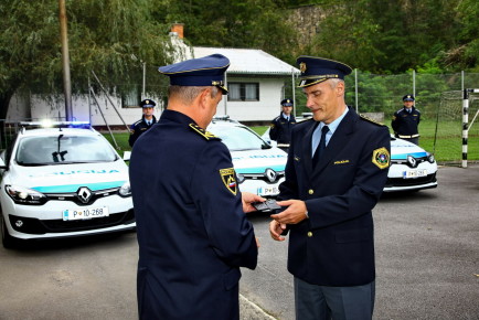
[[[278,148],[232,151],[236,173],[263,173],[267,168],[284,171],[288,154]]]

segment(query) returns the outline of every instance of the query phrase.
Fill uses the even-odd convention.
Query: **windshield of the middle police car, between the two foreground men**
[[[253,130],[243,126],[213,126],[209,130],[220,137],[230,151],[260,150],[272,148]]]

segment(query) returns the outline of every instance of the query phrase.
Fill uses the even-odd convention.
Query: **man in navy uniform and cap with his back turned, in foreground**
[[[230,61],[213,54],[160,67],[168,108],[135,145],[130,182],[139,262],[139,319],[238,319],[240,267],[257,245],[245,212],[265,199],[241,193],[232,158],[204,130]]]

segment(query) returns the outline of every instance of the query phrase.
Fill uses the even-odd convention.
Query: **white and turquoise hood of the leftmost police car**
[[[121,160],[41,167],[12,166],[9,181],[43,193],[76,192],[81,186],[96,191],[121,186],[128,181],[128,167]]]

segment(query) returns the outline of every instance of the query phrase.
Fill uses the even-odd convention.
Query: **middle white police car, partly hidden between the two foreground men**
[[[230,149],[241,191],[275,198],[285,180],[288,154],[272,147],[248,127],[227,116],[215,117],[206,129]]]

